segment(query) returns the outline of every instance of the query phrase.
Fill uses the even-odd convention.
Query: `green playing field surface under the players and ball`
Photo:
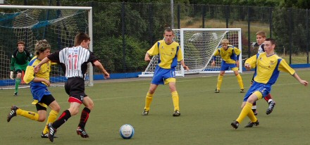
[[[310,81],[310,70],[297,70],[304,80]],[[245,89],[249,88],[252,73],[243,73]],[[123,82],[100,81],[87,87],[94,100],[86,130],[88,139],[77,136],[75,130],[80,119],[73,116],[58,128],[54,143],[42,139],[45,122],[35,122],[17,116],[6,122],[11,105],[35,111],[31,106],[30,89],[0,90],[1,144],[310,144],[310,87],[299,84],[294,77],[281,73],[271,94],[277,105],[271,115],[266,115],[268,104],[257,102],[260,125],[244,128],[248,118],[235,130],[230,122],[240,113],[244,94],[234,75],[225,75],[220,94],[215,94],[217,75],[187,75],[178,78],[180,117],[173,117],[173,103],[168,86],[156,90],[149,115],[142,116],[144,98],[150,79],[128,79]],[[68,96],[63,87],[49,88],[61,111],[68,108]],[[82,110],[82,108],[81,108]],[[49,111],[49,110],[48,110]],[[121,139],[118,133],[123,124],[135,127],[132,139]]]

